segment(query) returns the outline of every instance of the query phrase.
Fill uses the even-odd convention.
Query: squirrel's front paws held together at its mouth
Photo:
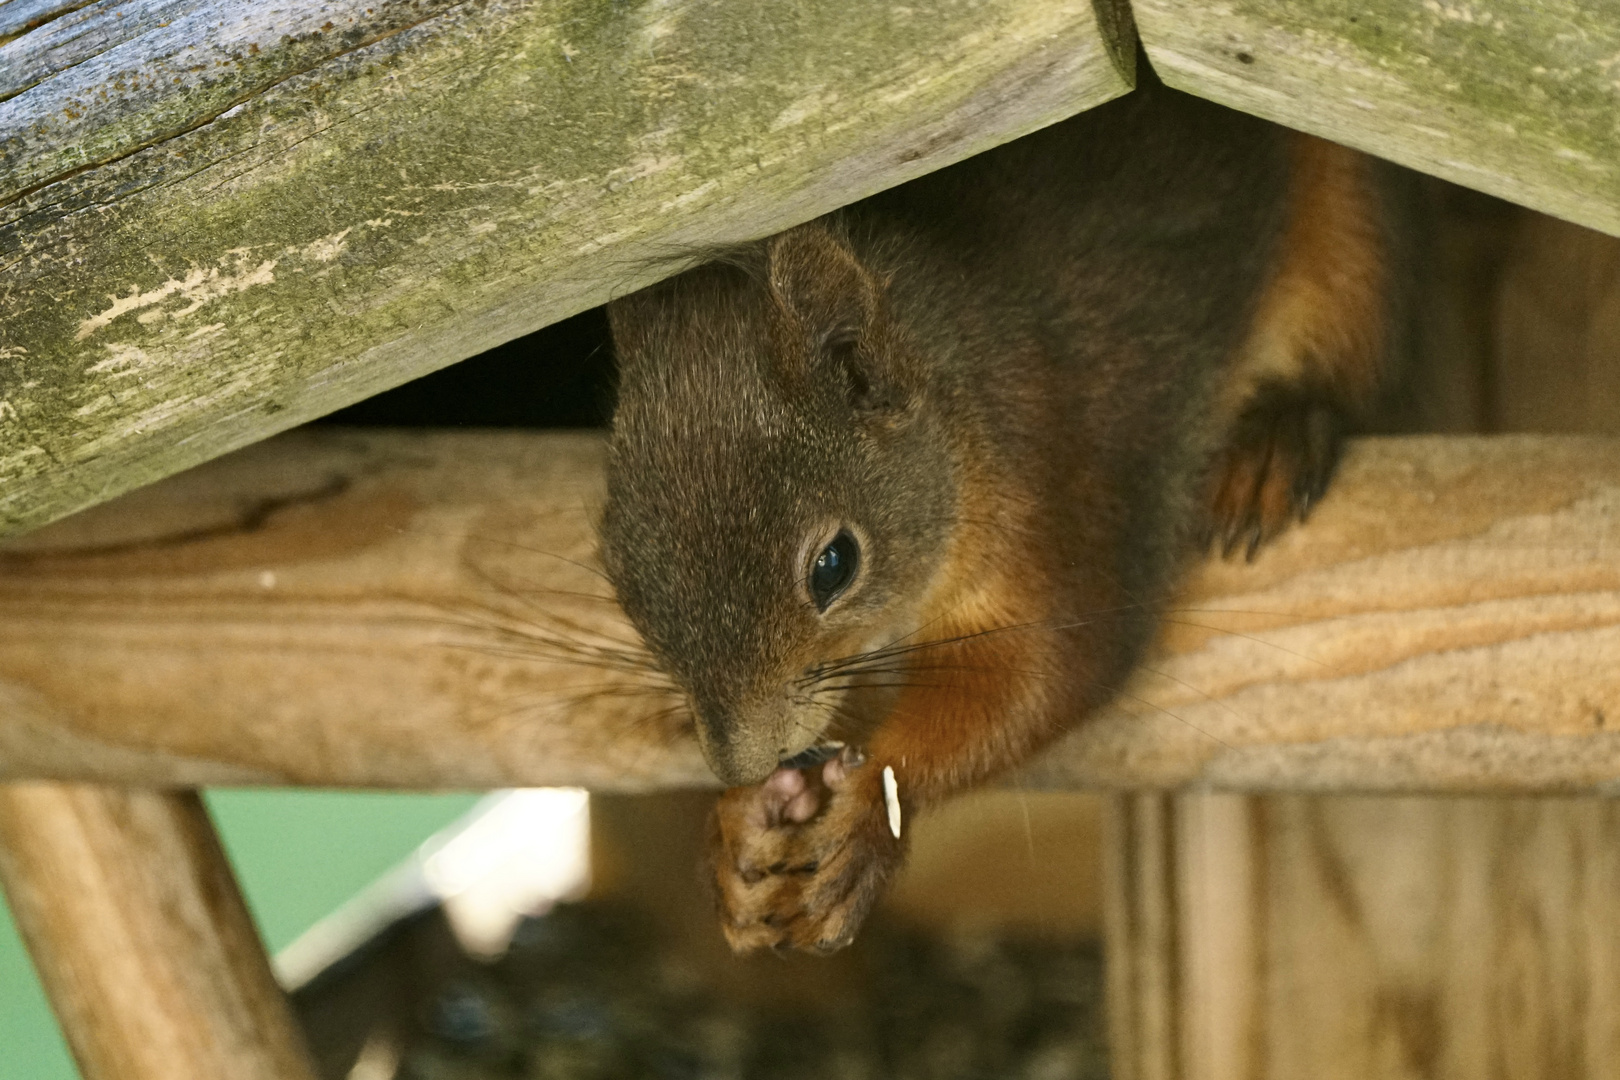
[[[885,772],[846,748],[719,797],[710,853],[734,950],[834,952],[854,941],[904,855]]]

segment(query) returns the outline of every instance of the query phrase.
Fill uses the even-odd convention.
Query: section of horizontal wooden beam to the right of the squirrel
[[[1160,656],[1030,779],[1614,792],[1617,468],[1604,439],[1359,444],[1306,528],[1200,570]]]

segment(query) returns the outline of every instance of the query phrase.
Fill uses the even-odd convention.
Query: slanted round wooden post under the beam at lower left
[[[0,882],[86,1080],[314,1080],[194,792],[0,785]]]

